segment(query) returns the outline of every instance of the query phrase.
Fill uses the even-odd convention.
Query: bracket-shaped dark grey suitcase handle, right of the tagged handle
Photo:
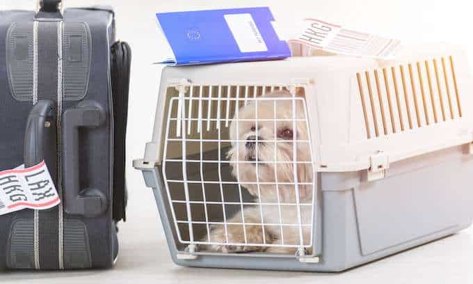
[[[106,196],[101,191],[81,189],[79,182],[79,128],[95,128],[104,122],[104,109],[91,101],[81,102],[63,114],[63,191],[65,212],[69,214],[99,216],[108,207]]]

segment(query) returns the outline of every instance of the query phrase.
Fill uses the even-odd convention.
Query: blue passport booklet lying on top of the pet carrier
[[[194,65],[291,56],[268,7],[157,13],[173,56],[159,63]]]

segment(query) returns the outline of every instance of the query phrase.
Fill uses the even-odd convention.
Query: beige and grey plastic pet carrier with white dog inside
[[[342,271],[470,225],[471,84],[448,45],[167,67],[134,167],[178,265]]]

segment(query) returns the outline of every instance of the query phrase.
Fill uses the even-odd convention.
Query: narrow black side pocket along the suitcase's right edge
[[[127,42],[115,42],[111,47],[111,84],[113,95],[114,166],[113,220],[126,221],[127,187],[125,181],[125,139],[127,136],[131,49]]]

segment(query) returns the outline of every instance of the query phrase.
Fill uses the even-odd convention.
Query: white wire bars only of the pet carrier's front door
[[[308,123],[308,115],[307,115],[307,107],[305,105],[305,100],[302,97],[262,97],[261,95],[264,95],[267,92],[272,92],[274,90],[288,90],[291,89],[291,93],[295,93],[295,87],[291,86],[289,88],[285,88],[283,86],[269,86],[269,87],[262,87],[261,92],[258,91],[257,86],[207,86],[207,89],[205,89],[206,86],[200,86],[200,85],[194,85],[194,84],[189,84],[187,86],[181,86],[179,88],[179,95],[177,97],[173,97],[170,99],[170,104],[169,104],[169,109],[168,109],[168,118],[167,118],[167,124],[166,124],[166,141],[164,144],[164,155],[163,155],[163,179],[164,179],[164,184],[166,185],[166,191],[168,194],[168,202],[170,203],[170,207],[172,208],[172,214],[173,214],[173,221],[175,223],[175,228],[177,232],[177,237],[179,239],[179,242],[182,244],[189,244],[189,245],[201,245],[201,244],[207,244],[207,245],[234,245],[234,246],[264,246],[264,247],[270,247],[270,246],[277,246],[277,247],[286,247],[286,248],[310,248],[312,247],[312,239],[313,239],[313,232],[314,232],[314,200],[316,198],[316,192],[315,189],[316,187],[314,186],[314,180],[316,179],[316,173],[315,173],[315,168],[314,168],[314,157],[311,157],[310,161],[298,161],[297,155],[293,155],[294,159],[291,162],[293,166],[293,171],[294,171],[294,182],[280,182],[278,181],[278,170],[277,166],[274,166],[274,171],[275,171],[275,182],[262,182],[259,180],[259,175],[256,175],[256,180],[254,182],[247,182],[245,181],[244,184],[254,184],[257,187],[257,200],[255,202],[246,202],[243,199],[243,187],[241,185],[241,182],[237,182],[236,180],[225,180],[223,178],[222,174],[222,166],[223,165],[228,165],[230,164],[230,161],[225,159],[222,155],[222,150],[223,150],[223,144],[228,144],[228,143],[234,143],[237,145],[236,147],[236,156],[239,157],[239,147],[240,143],[246,143],[246,140],[232,140],[229,137],[224,137],[223,135],[227,135],[227,133],[223,133],[223,128],[228,128],[230,127],[230,123],[232,122],[237,122],[236,123],[236,133],[239,133],[239,123],[243,121],[252,121],[255,123],[255,129],[256,129],[256,136],[258,136],[258,123],[262,122],[268,122],[271,121],[274,124],[274,131],[276,132],[277,130],[277,124],[278,122],[287,122],[287,119],[278,119],[276,118],[276,113],[277,113],[277,108],[278,108],[278,102],[282,101],[290,101],[292,103],[292,118],[291,118],[291,123],[293,124],[293,129],[296,129],[296,123],[301,122],[305,123],[305,127],[307,127],[307,132],[309,134],[309,139],[308,140],[297,140],[294,136],[294,138],[291,141],[284,141],[284,143],[292,143],[293,147],[293,153],[297,152],[297,147],[298,143],[307,143],[310,147],[310,153],[313,155],[312,151],[312,145],[310,143],[310,131],[308,131],[309,128],[309,123]],[[223,97],[223,91],[226,89],[226,96]],[[197,91],[196,91],[197,90]],[[213,94],[214,90],[216,90],[216,94]],[[234,90],[234,91],[232,91]],[[252,90],[252,92],[251,92]],[[250,94],[251,93],[251,94]],[[274,116],[271,119],[259,119],[258,116],[258,103],[262,101],[271,101],[273,102],[274,106]],[[207,105],[207,118],[204,117],[205,113],[205,106],[203,103],[206,103]],[[255,119],[241,119],[239,118],[239,111],[240,107],[243,104],[248,104],[249,102],[254,102],[256,104],[255,107]],[[303,118],[299,118],[300,114],[296,113],[296,102],[300,102],[303,104],[303,109],[304,113]],[[193,104],[198,104],[198,111],[195,113],[193,111]],[[215,106],[216,104],[216,109]],[[233,108],[231,108],[231,104],[233,104]],[[177,109],[177,111],[173,111]],[[225,111],[224,111],[225,109]],[[207,124],[207,128],[204,129],[204,124]],[[196,129],[193,129],[193,125],[196,125]],[[214,124],[216,133],[213,132],[213,136],[205,136],[204,132],[211,132],[213,127],[211,126]],[[175,125],[175,134],[172,135],[171,132],[173,132],[172,128],[173,125]],[[197,132],[197,137],[195,134],[195,130]],[[194,133],[193,133],[194,132]],[[175,142],[175,143],[180,143],[181,145],[181,150],[182,150],[182,157],[179,158],[173,158],[170,157],[168,158],[168,146],[171,145],[170,143]],[[277,138],[273,140],[258,140],[255,141],[258,145],[258,143],[274,143],[274,160],[273,161],[264,161],[266,164],[278,164],[278,163],[287,163],[287,161],[278,161],[278,143],[281,143],[282,141],[278,140]],[[189,143],[199,143],[200,145],[200,157],[198,159],[189,159],[189,153],[187,152],[186,148],[189,145]],[[217,143],[217,149],[218,150],[218,159],[205,159],[204,153],[205,153],[205,143]],[[172,145],[170,146],[172,147]],[[255,157],[259,157],[258,151],[259,147],[255,147]],[[178,179],[170,179],[168,178],[166,174],[166,167],[168,163],[171,162],[177,162],[182,164],[182,178]],[[236,175],[240,176],[240,165],[244,163],[253,163],[256,166],[256,173],[259,173],[258,167],[260,164],[262,164],[262,161],[259,161],[257,158],[256,161],[236,161]],[[192,178],[188,177],[188,168],[189,165],[192,164],[198,164],[198,171],[199,171],[199,178],[193,180]],[[205,166],[208,164],[216,164],[218,166],[218,180],[205,180]],[[310,164],[312,165],[312,180],[310,182],[300,182],[298,181],[297,177],[297,171],[298,171],[298,164]],[[173,198],[173,192],[171,192],[175,188],[176,184],[179,185],[179,187],[182,187],[184,189],[184,199],[185,200],[178,200],[176,198]],[[193,185],[198,185],[200,184],[200,189],[202,191],[202,200],[192,200],[191,195],[189,194],[190,186]],[[215,200],[207,200],[207,195],[206,195],[206,187],[208,187],[210,184],[216,184],[219,187],[220,191],[220,200],[215,201]],[[262,185],[274,185],[276,192],[277,192],[277,202],[263,202],[261,199],[261,189],[260,187]],[[236,202],[230,202],[225,200],[225,191],[227,190],[232,190],[230,189],[230,186],[233,185],[238,188],[238,196],[239,200]],[[283,203],[282,200],[280,200],[280,186],[282,185],[294,185],[294,191],[295,191],[295,196],[296,200],[295,202],[291,203]],[[299,191],[298,187],[301,185],[310,185],[312,187],[312,200],[310,203],[301,203],[300,202],[300,196],[299,196]],[[185,206],[185,215],[186,218],[184,219],[179,219],[177,218],[177,210],[176,207],[177,205],[184,205]],[[205,221],[204,220],[198,220],[198,218],[193,219],[193,210],[192,206],[193,205],[203,205],[204,207],[204,215],[205,215]],[[215,221],[209,219],[209,206],[211,205],[218,205],[222,207],[222,217],[223,220],[221,221]],[[239,210],[241,211],[241,222],[230,222],[228,221],[228,216],[227,216],[227,210],[225,207],[229,206],[238,206]],[[255,222],[248,222],[245,220],[245,214],[243,214],[243,211],[245,209],[245,206],[257,206],[259,207],[259,213],[260,213],[260,222],[255,223]],[[278,211],[278,218],[279,222],[278,223],[265,223],[264,221],[264,212],[263,212],[263,207],[276,207]],[[294,220],[294,223],[284,223],[282,221],[282,207],[284,206],[294,206],[297,209],[297,220]],[[310,221],[303,223],[302,216],[301,216],[301,210],[303,208],[310,207],[310,212],[311,212],[311,217]],[[179,225],[184,225],[187,227],[189,230],[189,239],[184,239],[182,237],[181,230],[179,230]],[[243,226],[243,235],[244,235],[244,242],[230,242],[229,237],[228,237],[228,226],[232,225],[237,225],[237,226]],[[195,226],[205,226],[205,231],[207,232],[207,238],[206,239],[198,239],[195,237],[194,234],[194,227]],[[211,240],[210,235],[211,235],[211,229],[212,226],[223,226],[225,228],[225,242],[214,242]],[[248,241],[247,238],[247,232],[246,232],[246,226],[261,226],[262,227],[262,234],[263,234],[263,242],[262,243],[252,243]],[[280,243],[279,244],[271,244],[266,242],[266,232],[264,228],[266,226],[277,226],[279,227],[280,231]],[[298,236],[298,244],[286,244],[284,242],[284,227],[294,227],[298,228],[299,231],[299,236]],[[303,230],[310,230],[310,238],[305,239]]]

